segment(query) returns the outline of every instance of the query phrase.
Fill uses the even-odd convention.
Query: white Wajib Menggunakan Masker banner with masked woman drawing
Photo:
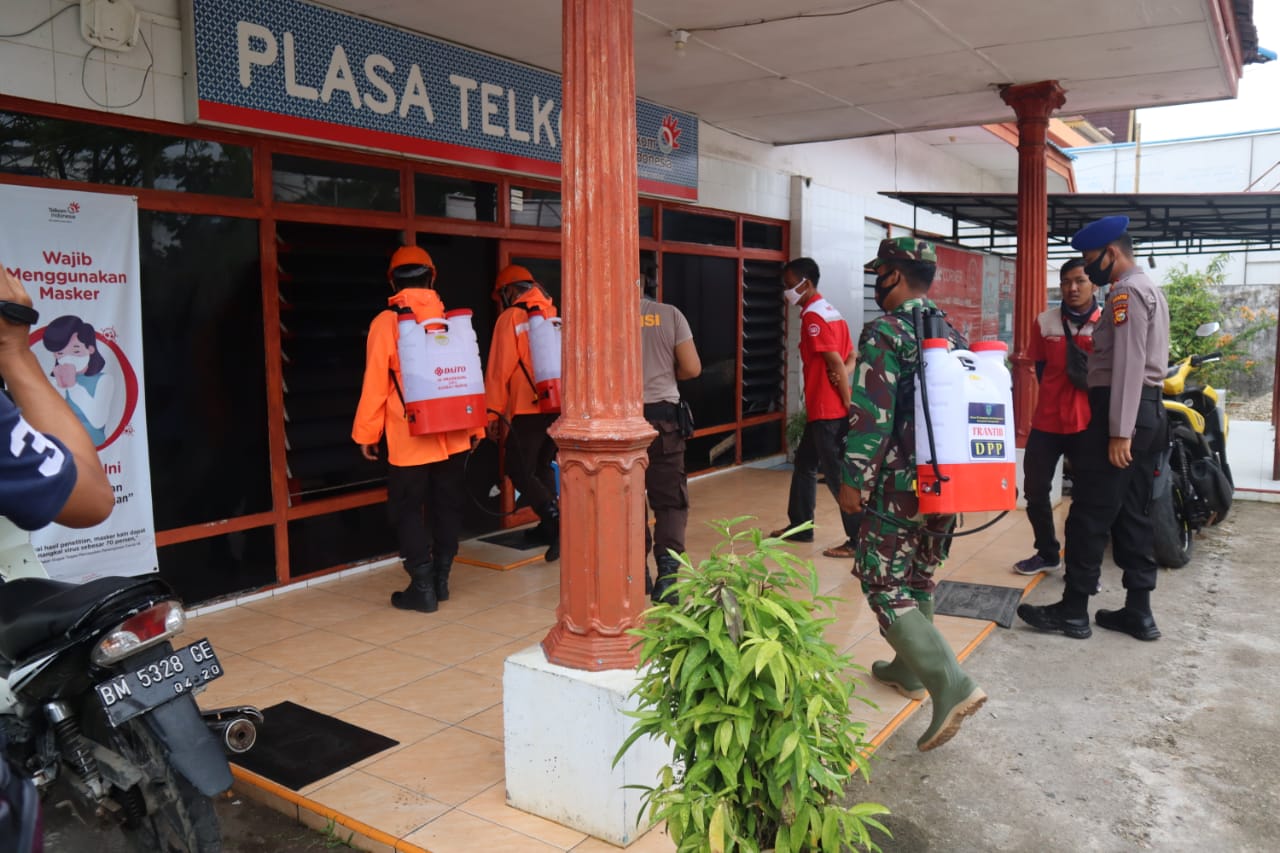
[[[31,534],[51,578],[156,569],[142,383],[138,202],[0,184],[0,261],[40,311],[31,348],[97,446],[115,508],[97,526]]]

